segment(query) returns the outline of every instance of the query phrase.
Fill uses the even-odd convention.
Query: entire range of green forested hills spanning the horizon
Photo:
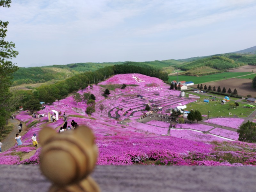
[[[20,84],[44,83],[50,80],[63,80],[86,71],[96,71],[100,68],[129,63],[133,66],[147,66],[160,69],[162,72],[172,73],[179,68],[187,75],[209,75],[237,68],[243,65],[256,65],[256,55],[226,53],[206,57],[194,57],[183,60],[155,60],[145,62],[105,62],[105,63],[71,63],[68,65],[52,65],[44,67],[19,68],[13,74],[13,86]],[[183,73],[183,74],[184,74]]]

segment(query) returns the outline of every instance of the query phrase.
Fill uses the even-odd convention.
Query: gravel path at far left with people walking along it
[[[10,132],[8,134],[8,136],[2,140],[1,142],[3,143],[3,147],[2,147],[2,152],[4,151],[7,151],[9,148],[13,147],[16,142],[15,142],[15,137],[16,137],[16,133],[19,133],[18,131],[18,125],[20,124],[20,121],[17,120],[17,119],[11,119],[9,120],[9,123],[8,124],[12,124],[13,125],[13,128],[12,128],[12,132]],[[20,136],[24,135],[27,131],[26,130],[26,125],[25,123],[22,122],[22,130],[20,134]]]

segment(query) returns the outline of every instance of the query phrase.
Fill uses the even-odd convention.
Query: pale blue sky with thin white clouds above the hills
[[[19,67],[185,59],[256,45],[255,0],[12,0]]]

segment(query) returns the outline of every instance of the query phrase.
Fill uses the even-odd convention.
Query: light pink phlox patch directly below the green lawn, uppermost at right
[[[204,122],[208,122],[208,120],[205,120]],[[239,129],[239,125],[244,122],[244,119],[239,118],[214,118],[209,119],[209,123],[231,127],[234,129]]]

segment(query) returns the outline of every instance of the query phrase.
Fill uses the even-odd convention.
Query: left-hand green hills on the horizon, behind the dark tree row
[[[29,83],[44,83],[52,79],[63,80],[68,77],[74,76],[75,74],[96,71],[100,68],[120,65],[127,62],[106,62],[106,63],[71,63],[68,65],[52,65],[44,67],[30,67],[30,68],[19,68],[13,74],[13,86],[20,84]],[[129,64],[138,66],[151,66],[157,69],[164,67],[175,66],[182,62],[177,60],[165,60],[165,61],[146,61],[146,62],[131,62]]]

